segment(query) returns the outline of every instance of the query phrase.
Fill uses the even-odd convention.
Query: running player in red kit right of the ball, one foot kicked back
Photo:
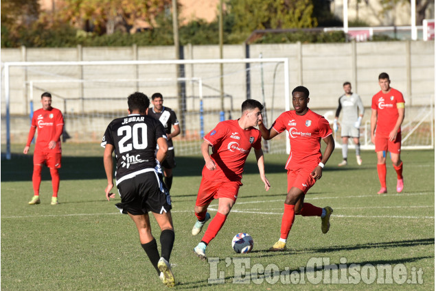
[[[330,229],[332,207],[324,208],[304,202],[306,192],[321,179],[323,168],[334,150],[332,129],[323,116],[308,108],[309,90],[298,86],[292,90],[292,105],[295,110],[283,112],[275,120],[270,129],[259,125],[262,138],[271,140],[283,131],[288,131],[290,154],[286,162],[288,170],[288,194],[284,202],[284,214],[280,238],[270,251],[286,250],[290,228],[294,223],[295,214],[301,216],[320,216],[321,231],[327,233]],[[327,144],[324,155],[321,154],[321,139]]]

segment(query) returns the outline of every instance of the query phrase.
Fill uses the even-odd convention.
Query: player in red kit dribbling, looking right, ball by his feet
[[[203,225],[210,219],[207,207],[211,201],[218,199],[218,212],[207,227],[201,242],[194,248],[194,253],[202,260],[206,260],[207,244],[216,237],[238,198],[238,190],[242,186],[242,171],[252,147],[260,179],[264,182],[266,191],[270,188],[265,177],[262,137],[260,131],[254,128],[262,121],[263,107],[259,101],[253,99],[244,101],[241,118],[218,123],[201,144],[205,166],[195,203],[197,222],[192,228],[193,236],[200,233]],[[211,155],[209,147],[212,147]]]

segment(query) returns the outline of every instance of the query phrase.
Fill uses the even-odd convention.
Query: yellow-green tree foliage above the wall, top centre
[[[230,0],[234,31],[316,27],[311,0]]]

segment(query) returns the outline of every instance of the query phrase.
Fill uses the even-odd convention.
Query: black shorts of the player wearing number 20
[[[170,192],[154,170],[126,179],[117,188],[121,203],[115,206],[123,214],[141,215],[149,211],[162,214],[172,208]]]

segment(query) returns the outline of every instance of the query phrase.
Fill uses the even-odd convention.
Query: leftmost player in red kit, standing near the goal
[[[39,186],[41,184],[41,170],[43,164],[50,168],[51,186],[53,188],[53,197],[51,205],[58,204],[59,190],[59,173],[61,160],[60,135],[64,129],[64,117],[60,110],[51,107],[51,94],[44,92],[41,95],[41,104],[43,107],[34,112],[32,117],[32,126],[30,127],[29,136],[23,153],[27,154],[30,148],[30,142],[34,138],[36,128],[38,128],[38,137],[36,138],[34,151],[34,171],[32,175],[32,184],[34,188],[34,197],[29,201],[30,205],[39,204]]]

